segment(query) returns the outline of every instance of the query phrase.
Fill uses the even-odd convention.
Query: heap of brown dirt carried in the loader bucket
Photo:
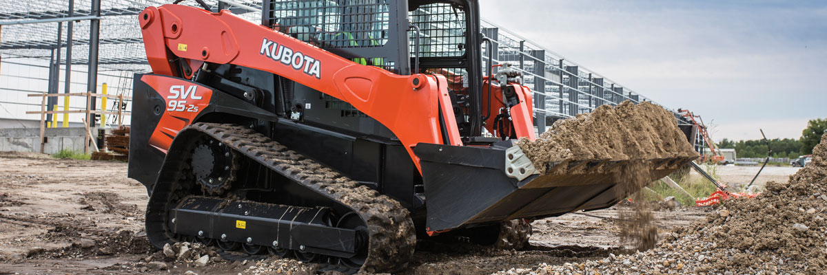
[[[557,121],[537,140],[519,140],[520,149],[544,173],[546,163],[564,159],[655,159],[695,156],[671,111],[651,102],[603,105]]]

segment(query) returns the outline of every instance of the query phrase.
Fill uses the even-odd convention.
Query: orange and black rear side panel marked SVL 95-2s
[[[136,73],[133,79],[129,178],[151,192],[178,132],[196,121],[277,121],[270,111],[182,78]],[[184,98],[185,97],[185,98]]]

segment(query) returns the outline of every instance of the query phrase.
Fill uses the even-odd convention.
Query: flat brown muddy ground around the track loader
[[[726,168],[719,168],[719,171]],[[0,274],[307,273],[294,261],[170,264],[157,270],[145,239],[146,189],[127,178],[127,164],[0,153]],[[690,225],[709,208],[656,211],[659,232]],[[402,274],[485,274],[539,263],[579,263],[619,254],[612,209],[533,223],[531,244],[519,251],[480,247],[421,247]]]

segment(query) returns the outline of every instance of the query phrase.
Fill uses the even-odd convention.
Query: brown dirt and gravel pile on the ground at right
[[[767,183],[767,191],[752,199],[724,201],[706,220],[672,232],[657,249],[584,263],[540,264],[520,274],[825,274],[825,211],[827,134],[815,147],[813,162],[787,183]]]

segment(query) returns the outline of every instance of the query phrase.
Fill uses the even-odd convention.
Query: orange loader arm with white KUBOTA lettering
[[[404,145],[420,173],[414,146],[462,145],[442,75],[397,75],[356,64],[226,10],[213,13],[164,5],[147,7],[139,20],[146,57],[155,73],[192,78],[192,72],[208,62],[289,78],[379,121]],[[178,68],[179,64],[189,68]]]

